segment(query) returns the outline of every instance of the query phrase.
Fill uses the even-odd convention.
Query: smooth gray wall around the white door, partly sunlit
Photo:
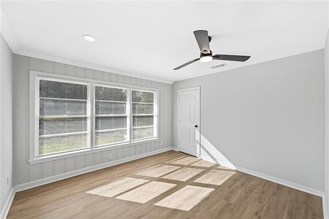
[[[200,86],[202,157],[324,191],[323,52],[175,82],[173,146],[177,90]]]

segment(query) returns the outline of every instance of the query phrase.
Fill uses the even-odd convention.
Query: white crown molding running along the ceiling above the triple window
[[[167,79],[150,77],[150,76],[145,76],[145,75],[130,73],[130,72],[123,72],[120,70],[109,69],[109,68],[101,67],[101,66],[94,65],[94,64],[87,64],[87,63],[83,63],[83,62],[79,62],[79,61],[73,61],[73,60],[66,59],[66,58],[56,57],[53,55],[35,53],[35,52],[26,51],[26,50],[22,50],[22,49],[18,49],[18,50],[15,49],[15,50],[13,50],[13,52],[15,54],[19,54],[19,55],[25,55],[25,56],[29,56],[29,57],[33,57],[33,58],[40,58],[40,59],[48,60],[51,62],[58,62],[58,63],[66,64],[66,65],[78,66],[78,67],[82,67],[82,68],[88,68],[88,69],[93,69],[93,70],[98,70],[98,71],[105,71],[105,72],[109,72],[109,73],[120,74],[120,75],[125,75],[125,76],[130,76],[130,77],[141,78],[141,79],[147,79],[150,81],[161,82],[161,83],[166,83],[166,84],[170,84],[170,85],[172,85],[174,83],[174,81],[167,80]]]

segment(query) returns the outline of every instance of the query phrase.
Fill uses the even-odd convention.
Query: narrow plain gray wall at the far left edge
[[[3,214],[4,205],[13,188],[13,53],[2,34],[1,36],[1,74],[0,74],[0,210]],[[7,177],[9,183],[7,185]]]

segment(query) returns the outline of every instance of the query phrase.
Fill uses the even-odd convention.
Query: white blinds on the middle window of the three
[[[127,89],[95,86],[95,147],[129,141]]]

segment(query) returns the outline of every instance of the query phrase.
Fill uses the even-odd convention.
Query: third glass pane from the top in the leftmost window
[[[87,131],[87,118],[39,118],[39,135]]]

